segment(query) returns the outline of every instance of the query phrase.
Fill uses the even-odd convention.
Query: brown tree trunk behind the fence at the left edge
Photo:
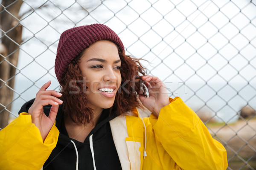
[[[12,107],[13,91],[9,87],[14,88],[15,67],[22,42],[22,26],[18,16],[22,3],[22,0],[3,0],[2,5],[6,9],[0,8],[0,26],[4,31],[0,39],[0,128],[8,125]]]

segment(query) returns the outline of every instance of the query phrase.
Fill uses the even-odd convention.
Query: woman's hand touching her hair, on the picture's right
[[[149,111],[158,117],[161,108],[170,104],[166,86],[159,78],[150,75],[143,76],[142,80],[145,81],[144,84],[148,88],[149,96],[144,97],[139,95],[140,101]]]

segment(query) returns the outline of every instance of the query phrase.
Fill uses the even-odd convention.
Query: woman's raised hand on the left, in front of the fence
[[[35,101],[29,108],[29,114],[32,118],[32,123],[40,130],[43,141],[46,139],[52,125],[55,122],[58,112],[58,106],[63,103],[62,100],[57,97],[61,97],[61,93],[53,90],[46,90],[51,81],[45,83],[35,96]],[[52,105],[49,116],[44,114],[43,106]]]

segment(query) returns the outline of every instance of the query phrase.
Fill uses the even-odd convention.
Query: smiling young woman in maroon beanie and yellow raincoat
[[[225,170],[226,150],[179,97],[93,24],[61,34],[47,82],[0,131],[0,169]],[[148,96],[146,95],[148,89]],[[141,118],[137,108],[151,111]]]

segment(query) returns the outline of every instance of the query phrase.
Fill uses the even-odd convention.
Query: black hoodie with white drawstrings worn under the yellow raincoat
[[[35,99],[26,102],[20,109],[21,112],[28,112]],[[44,106],[44,113],[48,116],[51,105]],[[114,119],[116,114],[105,109],[99,118],[96,126],[84,142],[76,141],[68,137],[64,125],[64,113],[62,105],[59,105],[56,116],[56,127],[60,131],[56,147],[52,150],[47,161],[44,163],[44,170],[75,170],[76,150],[71,140],[76,144],[79,156],[79,170],[93,170],[93,158],[90,150],[89,137],[93,134],[94,159],[97,170],[122,170],[116,147],[113,142],[109,121]],[[35,150],[36,152],[36,150]]]

